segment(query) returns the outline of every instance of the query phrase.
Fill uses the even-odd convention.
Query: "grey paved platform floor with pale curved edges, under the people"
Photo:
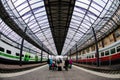
[[[0,73],[0,80],[120,80],[120,74],[105,74],[74,65],[68,71],[52,71],[44,65],[22,72]]]

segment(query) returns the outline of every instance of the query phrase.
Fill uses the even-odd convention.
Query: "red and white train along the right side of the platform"
[[[96,51],[79,55],[78,63],[96,64]],[[74,59],[75,60],[75,59]],[[75,60],[76,61],[76,60]],[[100,64],[120,64],[120,40],[99,49]]]

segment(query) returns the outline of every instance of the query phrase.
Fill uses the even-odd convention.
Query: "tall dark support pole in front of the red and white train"
[[[96,34],[95,34],[95,30],[94,28],[92,27],[92,31],[93,31],[93,35],[94,35],[94,40],[95,40],[95,46],[96,46],[96,63],[97,63],[97,67],[99,67],[99,48],[98,48],[98,41],[97,41],[97,38],[96,38]]]

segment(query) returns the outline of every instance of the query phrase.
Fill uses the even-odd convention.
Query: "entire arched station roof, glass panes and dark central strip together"
[[[120,0],[0,0],[0,32],[49,54],[66,55],[120,25]],[[25,28],[27,30],[25,31]],[[36,47],[34,47],[36,46]]]

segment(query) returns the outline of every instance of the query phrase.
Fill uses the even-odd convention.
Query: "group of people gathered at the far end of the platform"
[[[65,60],[58,58],[58,59],[48,59],[47,63],[49,64],[49,70],[58,70],[62,71],[64,68],[68,71],[68,68],[72,68],[72,59],[66,58]]]

